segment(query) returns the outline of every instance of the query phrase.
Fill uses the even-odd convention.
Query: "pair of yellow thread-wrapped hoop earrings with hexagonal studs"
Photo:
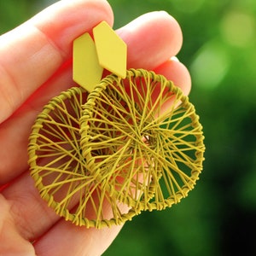
[[[126,45],[104,21],[73,44],[80,86],[55,96],[29,137],[31,175],[57,214],[87,228],[172,207],[198,179],[202,126],[164,76],[126,70]],[[111,72],[102,79],[103,69]]]

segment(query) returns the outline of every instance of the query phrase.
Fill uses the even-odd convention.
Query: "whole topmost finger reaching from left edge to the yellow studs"
[[[59,1],[0,38],[0,123],[72,53],[72,42],[100,21],[113,24],[107,1]]]

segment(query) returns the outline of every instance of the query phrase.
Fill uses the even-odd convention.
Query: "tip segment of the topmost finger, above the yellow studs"
[[[106,0],[62,0],[44,9],[30,21],[60,49],[100,21],[113,26],[113,10]],[[70,45],[69,45],[70,46]]]

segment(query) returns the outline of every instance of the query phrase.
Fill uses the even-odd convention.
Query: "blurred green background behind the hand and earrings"
[[[0,33],[54,2],[0,0]],[[256,255],[256,1],[109,3],[115,28],[154,10],[179,22],[183,49],[177,57],[192,76],[190,100],[201,116],[207,151],[189,197],[125,224],[104,256]]]

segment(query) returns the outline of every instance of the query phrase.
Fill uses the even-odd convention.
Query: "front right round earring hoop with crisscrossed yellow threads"
[[[83,106],[80,145],[87,170],[116,200],[142,210],[171,207],[202,170],[202,126],[172,81],[143,69],[109,75]]]

